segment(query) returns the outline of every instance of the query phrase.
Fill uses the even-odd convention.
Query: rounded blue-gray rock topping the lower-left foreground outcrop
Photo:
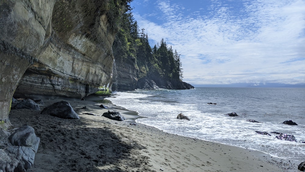
[[[31,126],[22,126],[9,136],[9,141],[14,146],[30,147],[36,153],[40,138],[36,136]]]

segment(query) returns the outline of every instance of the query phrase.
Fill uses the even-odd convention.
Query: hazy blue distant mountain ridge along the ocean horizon
[[[288,87],[288,88],[305,88],[305,83],[297,84],[284,84],[284,83],[271,83],[271,82],[260,82],[260,83],[233,83],[233,84],[193,84],[195,87]]]

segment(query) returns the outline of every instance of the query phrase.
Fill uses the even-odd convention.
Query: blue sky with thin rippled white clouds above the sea
[[[305,0],[134,0],[140,29],[190,84],[305,83]]]

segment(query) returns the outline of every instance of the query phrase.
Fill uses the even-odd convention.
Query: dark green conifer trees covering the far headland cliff
[[[148,40],[145,29],[139,29],[131,8],[127,5],[112,46],[115,60],[135,65],[138,79],[154,76],[181,80],[180,54],[167,46],[163,39],[153,47],[150,47]]]

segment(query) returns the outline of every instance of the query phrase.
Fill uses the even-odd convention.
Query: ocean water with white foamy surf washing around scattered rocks
[[[135,90],[114,92],[106,99],[145,117],[137,118],[137,123],[167,133],[305,161],[305,143],[302,143],[305,141],[305,88]],[[239,116],[225,115],[231,112]],[[179,113],[191,120],[177,119]],[[282,124],[285,120],[298,125]],[[268,132],[271,136],[256,131]],[[294,135],[297,142],[279,140],[273,131]]]

